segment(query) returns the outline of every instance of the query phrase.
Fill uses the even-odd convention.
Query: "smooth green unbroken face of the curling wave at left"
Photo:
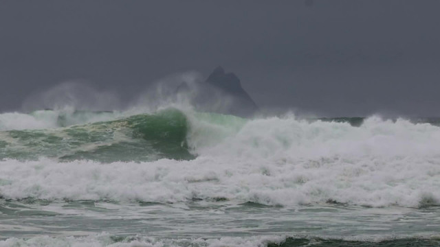
[[[0,159],[187,160],[194,158],[188,152],[187,130],[185,115],[175,109],[67,128],[9,130],[0,132]]]

